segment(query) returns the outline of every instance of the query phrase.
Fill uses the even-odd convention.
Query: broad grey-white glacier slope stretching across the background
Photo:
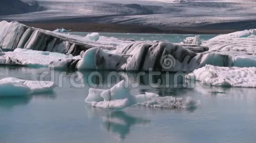
[[[19,0],[4,1],[10,6]],[[22,1],[28,4],[31,0]],[[165,32],[173,31],[173,29],[196,31],[198,28],[215,31],[227,29],[230,32],[230,30],[242,30],[247,27],[256,28],[256,0],[37,1],[38,3],[29,5],[38,7],[39,4],[44,7],[43,11],[15,15],[1,15],[0,12],[0,21],[141,25]],[[3,2],[0,3],[0,10],[1,7],[6,8]],[[16,10],[13,7],[7,9]]]

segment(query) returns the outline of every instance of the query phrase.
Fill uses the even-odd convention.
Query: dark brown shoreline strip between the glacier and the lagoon
[[[57,28],[70,29],[72,32],[120,32],[120,33],[166,33],[166,34],[225,34],[235,32],[232,29],[198,29],[189,27],[161,30],[144,25],[101,24],[101,23],[71,23],[71,22],[21,22],[25,25],[53,31]]]

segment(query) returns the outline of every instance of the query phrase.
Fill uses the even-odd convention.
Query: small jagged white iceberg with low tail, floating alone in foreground
[[[85,102],[93,107],[123,109],[132,105],[144,105],[159,108],[192,108],[200,104],[200,101],[191,97],[159,97],[155,93],[145,93],[141,95],[131,95],[127,83],[122,80],[111,89],[89,89],[89,94]]]

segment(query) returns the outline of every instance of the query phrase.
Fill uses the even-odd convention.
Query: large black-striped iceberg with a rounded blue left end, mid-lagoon
[[[217,52],[195,53],[178,44],[159,42],[124,46],[112,54],[91,48],[77,64],[79,70],[104,69],[121,71],[193,71],[206,64],[222,67],[256,67],[256,59]]]

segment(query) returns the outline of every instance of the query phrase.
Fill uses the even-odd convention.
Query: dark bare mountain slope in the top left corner
[[[42,7],[37,1],[27,4],[21,0],[0,0],[0,15],[24,14],[40,10]]]

